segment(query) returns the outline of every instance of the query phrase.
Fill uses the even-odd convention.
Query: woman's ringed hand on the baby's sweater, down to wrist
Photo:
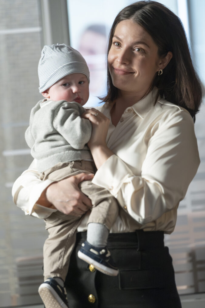
[[[94,147],[99,145],[107,146],[106,137],[110,120],[95,108],[86,110],[81,117],[90,120],[93,125],[92,135],[88,142],[90,150],[92,151]]]

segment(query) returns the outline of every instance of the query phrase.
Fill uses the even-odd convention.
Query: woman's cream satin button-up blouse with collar
[[[179,202],[199,167],[194,122],[182,107],[158,98],[155,88],[128,107],[115,127],[110,121],[107,145],[114,153],[97,170],[93,183],[107,188],[120,204],[119,215],[110,232],[174,230]],[[113,104],[98,109],[110,120]],[[46,218],[55,209],[36,202],[52,183],[41,181],[35,169],[22,173],[12,189],[14,203],[25,214]],[[89,213],[78,231],[86,230]]]

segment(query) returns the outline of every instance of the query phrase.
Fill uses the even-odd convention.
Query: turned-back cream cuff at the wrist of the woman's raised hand
[[[112,155],[97,170],[92,182],[116,196],[121,185],[130,176],[134,176],[130,168],[118,156]]]

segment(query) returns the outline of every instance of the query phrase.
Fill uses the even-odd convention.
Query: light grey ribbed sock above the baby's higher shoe
[[[88,224],[87,241],[96,247],[107,246],[109,230],[105,225],[91,222]]]

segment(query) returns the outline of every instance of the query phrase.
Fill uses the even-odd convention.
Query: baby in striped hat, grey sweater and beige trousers
[[[31,110],[26,142],[37,160],[40,179],[55,181],[81,173],[95,173],[86,145],[92,124],[81,118],[89,98],[89,69],[82,55],[65,44],[44,46],[38,65],[39,91],[45,97]],[[118,269],[107,249],[109,230],[118,215],[116,199],[91,181],[79,185],[92,201],[87,241],[78,257],[102,273],[116,276]],[[44,283],[39,294],[46,308],[68,308],[64,281],[82,217],[53,212],[45,219],[49,237],[44,244]],[[55,304],[55,305],[54,305]]]

